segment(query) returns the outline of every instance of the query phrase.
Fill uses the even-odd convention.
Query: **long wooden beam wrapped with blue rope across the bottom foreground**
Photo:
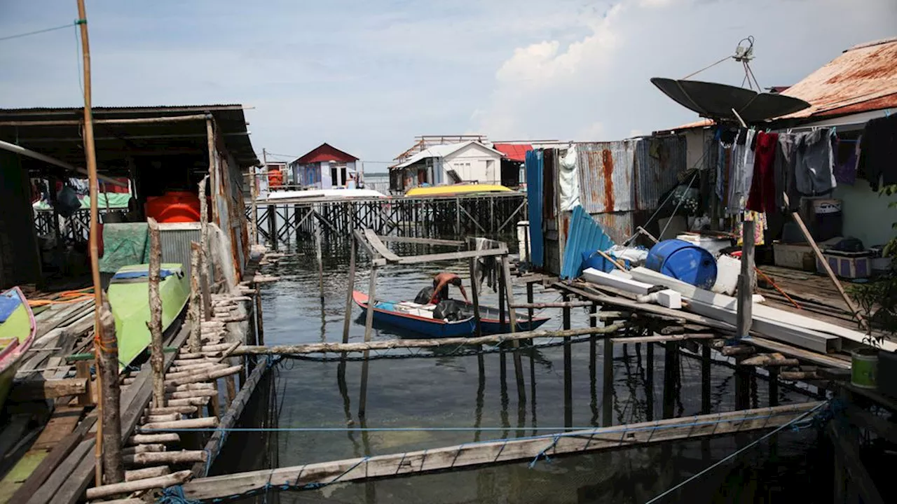
[[[748,430],[779,427],[811,413],[824,403],[788,404],[681,419],[646,421],[630,425],[575,430],[526,439],[466,443],[365,458],[337,460],[200,478],[183,485],[187,499],[211,500],[246,491],[286,485],[301,488],[313,483],[423,474],[459,467],[491,465],[518,460],[587,453],[603,449],[644,446],[676,439],[695,439]]]

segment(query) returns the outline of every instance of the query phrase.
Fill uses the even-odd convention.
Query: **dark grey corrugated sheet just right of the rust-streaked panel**
[[[636,202],[638,210],[654,210],[660,196],[679,183],[685,167],[683,136],[650,137],[639,140],[635,150]]]

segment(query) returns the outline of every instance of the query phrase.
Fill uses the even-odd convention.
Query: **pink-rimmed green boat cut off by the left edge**
[[[13,387],[15,371],[34,341],[37,324],[18,287],[0,294],[0,408]]]

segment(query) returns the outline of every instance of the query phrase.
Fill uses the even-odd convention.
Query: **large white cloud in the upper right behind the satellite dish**
[[[677,126],[697,117],[662,95],[651,77],[691,74],[753,35],[761,85],[792,84],[844,48],[893,35],[895,24],[893,0],[849,10],[837,0],[621,0],[509,52],[476,105],[475,129],[494,137],[609,140]],[[575,32],[579,37],[563,38]],[[741,65],[726,62],[696,78],[739,85],[743,76]]]

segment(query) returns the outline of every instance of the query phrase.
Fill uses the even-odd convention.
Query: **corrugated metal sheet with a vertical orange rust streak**
[[[577,144],[579,201],[588,213],[634,210],[636,140]]]

